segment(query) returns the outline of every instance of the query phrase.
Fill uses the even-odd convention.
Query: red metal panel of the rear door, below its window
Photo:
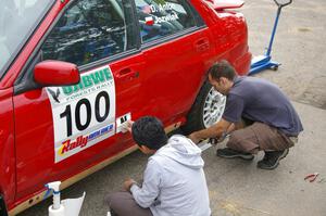
[[[139,99],[140,104],[147,105],[141,107],[141,113],[158,116],[165,122],[191,106],[193,98],[189,94],[199,90],[193,91],[193,88],[200,87],[198,84],[202,78],[191,74],[205,69],[205,61],[209,59],[204,56],[213,54],[210,40],[203,29],[143,50],[147,67],[143,76],[140,75],[142,86]],[[201,43],[205,41],[208,46],[201,49]]]

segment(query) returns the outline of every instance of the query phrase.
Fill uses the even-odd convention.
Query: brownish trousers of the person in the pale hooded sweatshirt
[[[153,216],[150,208],[140,207],[127,191],[110,193],[105,202],[114,212],[112,216]]]

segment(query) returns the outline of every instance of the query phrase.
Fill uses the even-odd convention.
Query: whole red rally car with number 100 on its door
[[[239,0],[10,0],[0,8],[0,215],[137,149],[122,124],[191,131],[222,115],[206,71],[250,67]]]

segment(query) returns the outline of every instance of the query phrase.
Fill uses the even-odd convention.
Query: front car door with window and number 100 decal
[[[13,97],[17,199],[133,148],[116,128],[137,109],[145,66],[131,10],[122,0],[71,2],[26,65]],[[34,65],[47,60],[76,64],[79,84],[35,84]]]

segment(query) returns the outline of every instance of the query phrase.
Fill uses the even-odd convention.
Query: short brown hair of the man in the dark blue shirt
[[[215,64],[213,64],[213,66],[209,69],[209,74],[215,80],[220,80],[221,77],[234,80],[236,76],[236,71],[228,63],[228,61],[222,60],[221,62],[216,62]]]

